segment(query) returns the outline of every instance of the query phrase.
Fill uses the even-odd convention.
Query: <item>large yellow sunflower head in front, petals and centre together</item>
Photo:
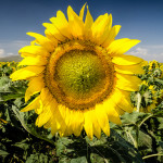
[[[35,110],[36,125],[51,128],[52,135],[74,134],[85,129],[87,136],[110,136],[109,121],[121,124],[120,115],[133,112],[130,91],[141,80],[143,60],[124,54],[140,42],[117,39],[121,26],[112,26],[112,15],[105,13],[93,21],[86,4],[77,15],[67,8],[67,20],[62,11],[43,23],[45,35],[27,33],[36,38],[20,50],[25,67],[11,75],[12,80],[27,79],[27,102],[22,110]]]

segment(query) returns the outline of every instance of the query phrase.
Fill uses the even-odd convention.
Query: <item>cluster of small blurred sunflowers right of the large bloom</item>
[[[131,102],[136,110],[151,112],[163,99],[163,64],[151,61],[143,70],[145,74],[139,75],[142,84],[131,92]]]

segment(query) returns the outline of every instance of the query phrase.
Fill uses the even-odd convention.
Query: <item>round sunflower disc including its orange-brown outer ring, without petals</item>
[[[90,41],[72,40],[59,45],[50,55],[45,82],[59,104],[85,110],[110,96],[114,66],[102,47]]]

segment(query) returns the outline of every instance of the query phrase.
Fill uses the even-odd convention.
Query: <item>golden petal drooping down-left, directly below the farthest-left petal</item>
[[[42,76],[33,78],[29,82],[28,88],[26,89],[26,92],[25,92],[25,102],[27,102],[33,95],[41,91],[43,87],[45,87],[45,80]]]

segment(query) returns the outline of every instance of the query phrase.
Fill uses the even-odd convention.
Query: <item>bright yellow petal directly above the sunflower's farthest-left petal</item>
[[[20,65],[46,65],[47,64],[47,58],[37,55],[37,57],[26,57],[23,59],[20,63]]]

